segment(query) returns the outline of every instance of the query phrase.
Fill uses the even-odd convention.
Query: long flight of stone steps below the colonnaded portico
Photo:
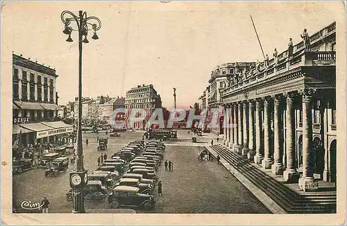
[[[223,157],[239,173],[269,195],[280,207],[291,214],[314,214],[336,212],[336,195],[314,194],[300,195],[289,189],[285,184],[273,179],[248,159],[231,152],[219,144],[210,146],[220,157]]]

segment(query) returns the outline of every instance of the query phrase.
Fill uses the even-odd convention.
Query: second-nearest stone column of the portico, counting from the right
[[[299,174],[296,172],[295,162],[295,120],[294,120],[294,94],[289,93],[287,96],[287,110],[285,111],[286,119],[286,150],[287,150],[287,168],[283,172],[283,178],[286,182],[298,182]]]

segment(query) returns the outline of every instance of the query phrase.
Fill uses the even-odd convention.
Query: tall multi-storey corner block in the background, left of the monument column
[[[130,110],[136,108],[146,110],[144,120],[128,125],[130,128],[144,130],[155,108],[162,108],[162,100],[153,85],[137,85],[137,87],[126,92],[125,108],[127,114],[129,114]]]

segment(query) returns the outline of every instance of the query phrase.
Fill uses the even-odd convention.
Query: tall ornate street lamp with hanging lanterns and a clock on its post
[[[61,15],[62,23],[65,25],[64,33],[69,35],[67,42],[73,42],[71,38],[72,31],[78,31],[78,124],[77,124],[77,148],[75,150],[75,163],[74,170],[70,173],[70,187],[73,194],[74,209],[72,210],[75,214],[85,213],[84,207],[84,191],[83,187],[87,184],[87,171],[83,166],[83,142],[82,142],[82,42],[88,43],[87,35],[88,31],[94,31],[92,39],[99,39],[96,35],[96,31],[101,28],[101,21],[97,17],[87,17],[87,12],[79,11],[79,15],[76,16],[70,11],[63,11]],[[72,26],[71,21],[75,21]],[[94,23],[92,23],[92,21]],[[84,39],[83,39],[84,36]]]

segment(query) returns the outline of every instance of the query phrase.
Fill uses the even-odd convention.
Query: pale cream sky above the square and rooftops
[[[294,44],[337,17],[341,2],[6,2],[2,9],[2,55],[12,51],[56,68],[59,105],[78,96],[78,35],[66,42],[63,10],[78,10],[102,22],[99,40],[83,44],[83,96],[125,96],[153,84],[164,107],[193,105],[211,71],[224,62],[262,60],[264,53]],[[342,12],[342,11],[341,11]],[[10,59],[10,58],[8,58]],[[12,62],[4,62],[8,66]]]

